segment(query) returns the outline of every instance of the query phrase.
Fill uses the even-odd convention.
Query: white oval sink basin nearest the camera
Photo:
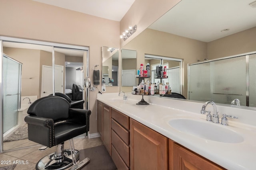
[[[241,143],[244,141],[243,137],[235,131],[208,121],[202,122],[194,119],[180,118],[172,119],[168,123],[178,131],[211,141],[223,143]]]

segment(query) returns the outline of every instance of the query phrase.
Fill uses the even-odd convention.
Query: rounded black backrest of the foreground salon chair
[[[62,97],[45,96],[34,101],[28,107],[27,113],[58,122],[68,119],[70,106],[70,103]]]

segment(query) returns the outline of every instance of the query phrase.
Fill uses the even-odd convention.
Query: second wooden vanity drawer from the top
[[[119,137],[129,145],[129,131],[122,127],[118,122],[114,119],[111,119],[111,127],[112,129],[119,135]]]

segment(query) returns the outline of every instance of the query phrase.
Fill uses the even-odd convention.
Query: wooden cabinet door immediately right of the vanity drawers
[[[130,170],[167,169],[167,138],[130,118]]]

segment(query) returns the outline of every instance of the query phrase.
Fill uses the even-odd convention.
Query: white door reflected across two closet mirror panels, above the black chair
[[[55,65],[55,92],[63,93],[63,66]],[[52,94],[52,66],[42,66],[41,97]]]

